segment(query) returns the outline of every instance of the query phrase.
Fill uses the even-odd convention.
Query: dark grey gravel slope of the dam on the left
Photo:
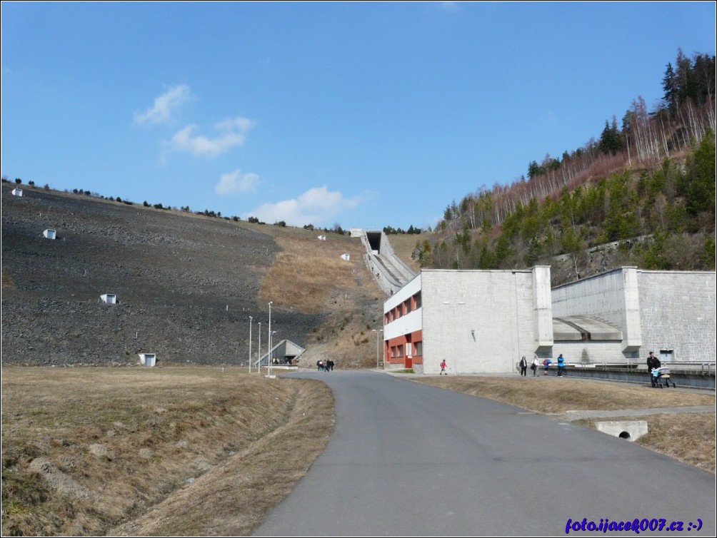
[[[274,239],[224,218],[2,183],[2,362],[247,362]],[[57,239],[45,239],[45,229]],[[115,294],[118,304],[100,301]],[[322,314],[272,310],[305,346]],[[256,337],[256,335],[254,335]]]

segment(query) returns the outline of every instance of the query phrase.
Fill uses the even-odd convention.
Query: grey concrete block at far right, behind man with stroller
[[[713,361],[717,355],[713,271],[622,267],[556,287],[552,296],[556,318],[587,316],[622,334],[617,350],[584,341],[565,352],[556,337],[554,351],[570,362],[644,362],[650,351],[663,362]]]

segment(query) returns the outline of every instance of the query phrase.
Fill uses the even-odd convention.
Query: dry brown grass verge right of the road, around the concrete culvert
[[[637,385],[555,378],[438,377],[412,380],[460,393],[490,398],[537,413],[568,410],[618,410],[715,405],[715,395],[652,390]],[[620,418],[609,418],[611,421]],[[631,416],[647,421],[649,433],[636,442],[683,463],[715,472],[715,413]],[[595,421],[576,421],[594,427]]]

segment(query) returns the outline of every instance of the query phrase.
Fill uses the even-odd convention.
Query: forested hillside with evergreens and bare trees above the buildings
[[[417,244],[421,265],[551,264],[554,284],[626,264],[714,269],[715,76],[714,56],[679,51],[656,110],[638,97],[599,140],[454,201]]]

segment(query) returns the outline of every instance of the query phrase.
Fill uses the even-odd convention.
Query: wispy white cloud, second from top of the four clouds
[[[204,135],[195,135],[196,125],[191,124],[177,131],[164,145],[171,151],[216,157],[234,146],[242,145],[254,125],[252,120],[244,117],[230,118],[214,125],[219,134],[214,138],[207,138]]]

